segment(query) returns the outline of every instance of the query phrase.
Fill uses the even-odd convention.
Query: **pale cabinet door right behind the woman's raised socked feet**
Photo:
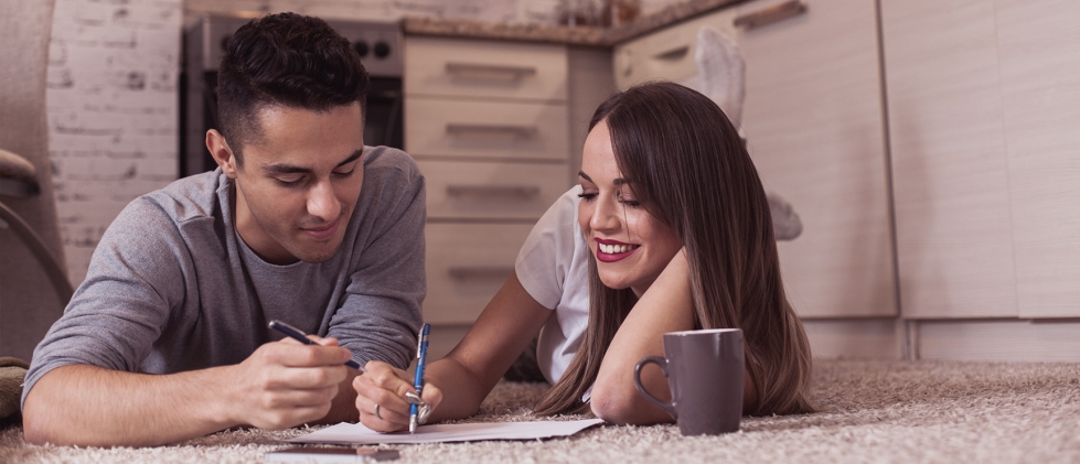
[[[795,311],[896,315],[874,2],[812,2],[805,14],[745,31],[741,46],[750,155],[803,223],[800,237],[779,244]]]

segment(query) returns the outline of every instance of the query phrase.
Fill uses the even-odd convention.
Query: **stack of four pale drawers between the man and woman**
[[[406,35],[405,150],[427,179],[424,319],[468,325],[570,186],[565,45]]]

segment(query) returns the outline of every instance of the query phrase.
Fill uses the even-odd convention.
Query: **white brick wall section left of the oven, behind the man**
[[[116,215],[177,179],[182,0],[56,0],[50,154],[72,282]]]

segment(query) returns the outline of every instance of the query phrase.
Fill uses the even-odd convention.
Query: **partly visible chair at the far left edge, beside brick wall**
[[[53,9],[0,0],[0,356],[25,360],[71,298],[45,112]]]

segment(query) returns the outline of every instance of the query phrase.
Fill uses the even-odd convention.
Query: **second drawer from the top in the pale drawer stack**
[[[413,155],[565,160],[566,105],[405,100],[405,151]]]

